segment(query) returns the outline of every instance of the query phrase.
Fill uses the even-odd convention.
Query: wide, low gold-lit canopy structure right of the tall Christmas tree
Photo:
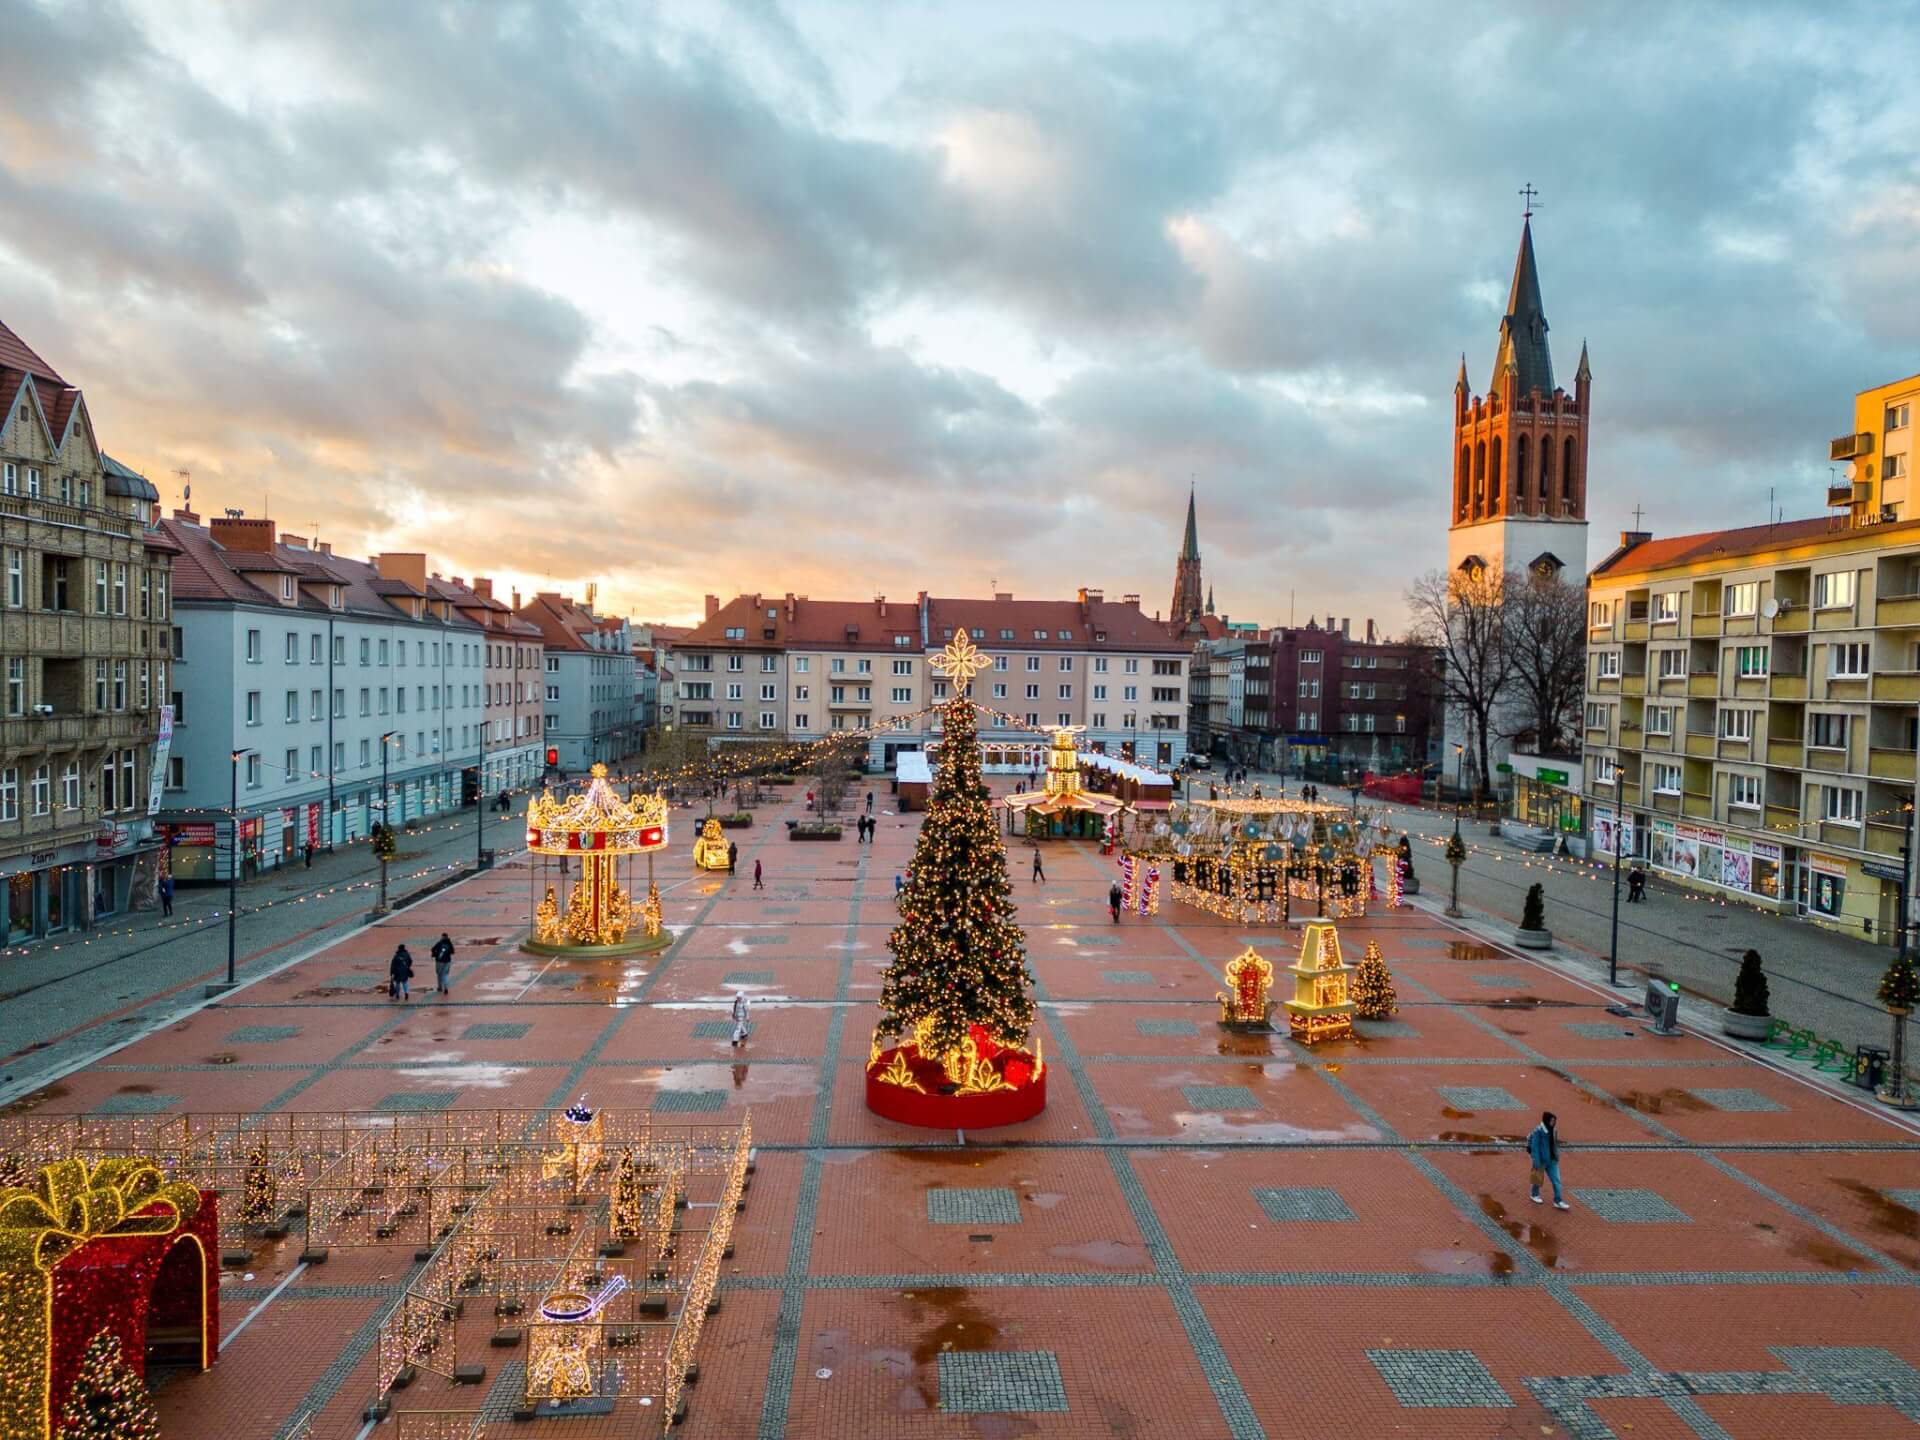
[[[1398,852],[1384,826],[1323,801],[1188,801],[1127,847],[1121,872],[1129,891],[1135,876],[1169,874],[1175,900],[1238,924],[1350,920],[1377,899],[1379,854],[1388,854],[1388,904],[1398,904]]]

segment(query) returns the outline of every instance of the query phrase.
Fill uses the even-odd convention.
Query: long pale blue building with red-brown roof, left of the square
[[[486,720],[472,591],[415,553],[349,561],[273,520],[175,511],[173,753],[180,879],[225,879],[459,806]],[[382,778],[386,797],[382,801]]]

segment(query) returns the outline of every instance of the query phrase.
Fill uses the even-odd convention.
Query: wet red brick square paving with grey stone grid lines
[[[751,1110],[760,1179],[693,1438],[1323,1434],[1267,1332],[1315,1334],[1346,1423],[1380,1432],[1920,1425],[1920,1187],[1899,1183],[1920,1173],[1920,1137],[1870,1108],[1699,1039],[1651,1050],[1601,996],[1415,910],[1342,925],[1350,948],[1380,941],[1394,1020],[1313,1050],[1229,1037],[1225,962],[1254,943],[1284,966],[1298,931],[1242,935],[1183,906],[1116,927],[1110,862],[1054,845],[1044,883],[1018,847],[1010,866],[1048,1112],[964,1139],[906,1131],[864,1112],[858,1060],[885,877],[918,818],[885,816],[870,847],[801,847],[781,808],[741,845],[743,872],[766,862],[760,895],[749,876],[676,872],[676,822],[662,956],[518,956],[526,876],[509,866],[21,1108],[445,1112],[586,1091],[666,1121]],[[392,945],[440,929],[505,939],[463,947],[453,996],[388,1002]],[[756,968],[730,968],[747,948]],[[735,989],[755,1000],[743,1050]],[[1524,1200],[1517,1139],[1542,1108],[1563,1117],[1567,1213]],[[232,1277],[228,1331],[252,1319],[209,1375],[159,1388],[169,1436],[267,1440],[305,1409],[323,1440],[357,1432],[411,1256],[296,1261],[298,1235]],[[503,1415],[520,1361],[488,1359],[484,1390],[422,1379],[407,1404]],[[515,1428],[545,1440],[549,1423]]]

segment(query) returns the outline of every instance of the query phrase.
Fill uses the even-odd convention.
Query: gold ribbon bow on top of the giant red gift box
[[[52,1271],[88,1240],[173,1235],[200,1210],[200,1190],[167,1181],[142,1156],[60,1160],[25,1188],[0,1190],[0,1271]]]

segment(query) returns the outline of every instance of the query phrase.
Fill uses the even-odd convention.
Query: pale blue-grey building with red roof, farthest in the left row
[[[634,636],[626,620],[540,591],[518,616],[541,634],[547,749],[561,770],[586,770],[639,751]]]

